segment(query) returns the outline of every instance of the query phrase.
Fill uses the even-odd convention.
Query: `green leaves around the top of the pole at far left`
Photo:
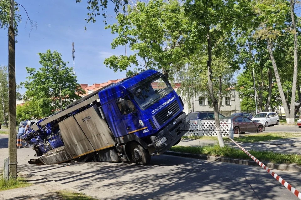
[[[10,9],[10,0],[1,0],[0,1],[0,28],[9,27],[9,9]],[[21,22],[21,15],[18,14],[19,8],[18,4],[15,2],[14,7],[14,28],[15,36],[18,36],[18,23]]]

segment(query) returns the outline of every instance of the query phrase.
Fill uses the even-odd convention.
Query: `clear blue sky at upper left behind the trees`
[[[16,49],[16,82],[27,77],[25,67],[40,68],[38,53],[47,49],[57,50],[62,54],[69,67],[73,67],[72,42],[75,43],[75,72],[78,83],[103,83],[110,79],[124,78],[125,72],[114,73],[103,64],[111,55],[124,54],[124,47],[111,49],[110,43],[116,37],[110,30],[104,30],[103,17],[98,16],[95,24],[84,26],[87,17],[87,2],[76,3],[75,0],[17,0],[23,5],[31,20],[38,23],[37,29],[30,32],[26,14],[20,9],[22,22],[18,26],[19,36]],[[108,24],[114,23],[113,5],[108,6]],[[111,8],[111,9],[110,9]],[[30,36],[29,36],[30,32]],[[0,65],[8,65],[7,29],[0,29]],[[25,92],[23,88],[21,93]]]

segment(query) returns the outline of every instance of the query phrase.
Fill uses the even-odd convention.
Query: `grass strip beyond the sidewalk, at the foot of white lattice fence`
[[[262,142],[262,141],[293,138],[293,137],[301,137],[301,133],[285,133],[285,132],[258,133],[258,134],[254,134],[254,135],[240,136],[239,138],[234,138],[234,140],[236,142],[254,143],[254,142]],[[184,136],[182,138],[217,140],[217,137],[213,137],[213,136]],[[230,141],[229,138],[223,138],[223,139],[224,139],[224,141]]]

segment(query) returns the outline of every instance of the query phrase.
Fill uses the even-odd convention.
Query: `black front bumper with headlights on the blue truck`
[[[175,120],[171,121],[157,135],[150,137],[150,140],[156,149],[152,155],[164,153],[182,138],[186,133],[185,130],[189,129],[186,116],[187,115],[184,112],[180,113]]]

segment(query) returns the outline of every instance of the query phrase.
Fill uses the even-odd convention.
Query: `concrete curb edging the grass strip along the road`
[[[173,152],[173,151],[166,151],[164,154],[171,155],[171,156],[187,157],[187,158],[197,158],[197,159],[203,159],[203,160],[208,160],[208,161],[219,161],[219,162],[226,162],[226,163],[235,163],[235,164],[240,164],[240,165],[258,166],[258,164],[252,160],[215,157],[215,156],[207,156],[207,155],[202,155],[202,154],[180,153],[180,152]],[[263,164],[265,164],[268,168],[271,168],[271,169],[291,170],[291,171],[295,171],[295,172],[301,172],[301,166],[299,166],[295,163],[292,163],[292,164],[263,163]]]

